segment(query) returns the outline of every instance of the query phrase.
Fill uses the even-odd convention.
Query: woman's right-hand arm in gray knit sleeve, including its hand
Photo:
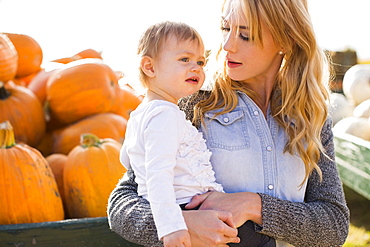
[[[230,211],[237,226],[252,220],[261,233],[295,246],[343,245],[349,210],[334,161],[331,120],[326,122],[321,138],[329,158],[322,155],[319,160],[322,182],[315,171],[309,177],[305,202],[281,200],[263,193],[211,192],[195,196],[187,207],[203,202],[200,209]]]

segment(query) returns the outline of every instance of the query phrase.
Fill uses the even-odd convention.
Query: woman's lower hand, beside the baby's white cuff
[[[182,213],[193,247],[227,247],[227,243],[240,242],[229,212],[190,210]]]

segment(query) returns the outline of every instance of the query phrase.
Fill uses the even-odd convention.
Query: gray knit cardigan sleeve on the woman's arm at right
[[[349,209],[346,205],[338,175],[332,122],[328,119],[321,133],[326,150],[321,155],[317,172],[308,179],[305,202],[290,202],[260,194],[262,197],[261,232],[295,246],[341,246],[349,227]]]

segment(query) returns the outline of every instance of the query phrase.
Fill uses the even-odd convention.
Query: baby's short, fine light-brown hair
[[[150,26],[141,36],[137,48],[137,54],[140,58],[148,56],[157,58],[164,44],[171,36],[176,37],[178,42],[197,41],[198,45],[204,46],[200,34],[192,27],[181,22],[165,21]],[[141,68],[139,79],[144,87],[147,85],[147,76]]]

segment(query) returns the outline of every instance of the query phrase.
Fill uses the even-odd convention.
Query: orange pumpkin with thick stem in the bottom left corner
[[[64,219],[54,175],[36,149],[17,144],[9,121],[0,124],[0,224]]]

